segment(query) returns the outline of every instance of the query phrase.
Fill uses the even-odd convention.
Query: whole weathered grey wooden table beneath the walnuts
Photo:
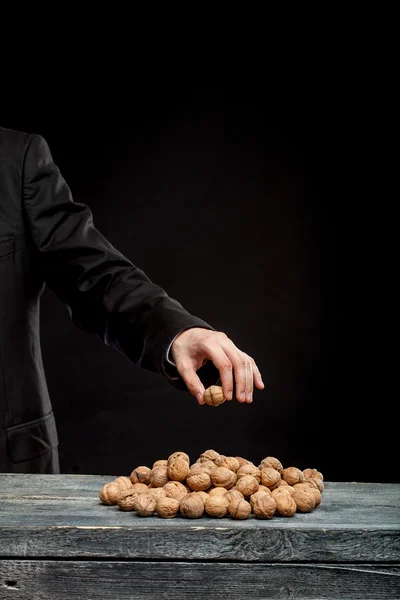
[[[141,518],[115,476],[0,474],[0,598],[400,598],[400,485],[325,484],[309,514]]]

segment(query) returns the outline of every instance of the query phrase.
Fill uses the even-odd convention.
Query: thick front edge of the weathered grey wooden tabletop
[[[154,519],[153,519],[154,521]],[[0,528],[0,557],[93,557],[141,560],[239,560],[254,562],[398,561],[397,531],[280,529],[257,521],[190,523],[179,529],[136,527]],[[164,521],[163,521],[164,523]],[[207,524],[203,524],[207,523]]]

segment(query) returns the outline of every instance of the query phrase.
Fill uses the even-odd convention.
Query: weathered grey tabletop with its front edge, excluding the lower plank
[[[309,514],[140,518],[100,503],[114,476],[0,475],[0,556],[376,562],[400,556],[400,485],[326,483]]]

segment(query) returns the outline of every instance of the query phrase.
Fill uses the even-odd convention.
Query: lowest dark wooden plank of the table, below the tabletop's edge
[[[398,600],[392,565],[0,561],[4,600]]]

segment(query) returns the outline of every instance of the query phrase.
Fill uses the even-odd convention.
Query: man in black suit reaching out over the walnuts
[[[204,403],[251,402],[254,360],[190,315],[118,252],[76,203],[40,135],[0,128],[0,471],[58,473],[57,428],[39,337],[48,285],[76,327]],[[234,374],[234,376],[233,376]]]

